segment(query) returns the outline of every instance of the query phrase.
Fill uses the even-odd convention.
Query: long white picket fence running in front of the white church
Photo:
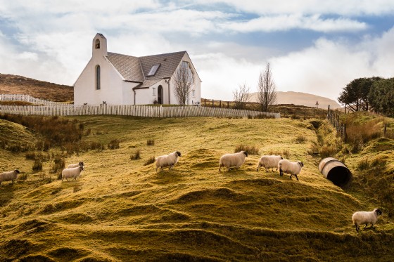
[[[30,103],[44,104],[42,103],[43,100],[34,100],[37,98],[31,99],[31,96],[25,95],[0,95],[0,100],[9,100],[8,98],[22,100],[21,96],[23,96],[24,99],[30,99]],[[66,105],[54,102],[50,102],[46,105],[0,105],[0,112],[6,114],[42,116],[110,114],[128,115],[134,117],[281,117],[280,113],[236,110],[229,108],[202,107],[194,105],[175,107],[163,107],[154,105]]]

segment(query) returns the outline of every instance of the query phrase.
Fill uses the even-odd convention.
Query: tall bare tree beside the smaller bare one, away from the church
[[[272,79],[271,67],[269,63],[264,72],[260,72],[258,80],[258,102],[262,112],[267,112],[270,105],[277,102],[277,86]]]

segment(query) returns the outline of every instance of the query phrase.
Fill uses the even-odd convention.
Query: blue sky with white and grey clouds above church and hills
[[[0,73],[72,86],[96,33],[132,56],[187,51],[201,96],[277,91],[336,100],[360,77],[394,77],[392,0],[0,0]]]

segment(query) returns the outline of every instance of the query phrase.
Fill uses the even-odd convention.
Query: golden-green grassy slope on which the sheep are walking
[[[74,148],[0,149],[1,171],[20,169],[23,178],[0,187],[1,260],[391,261],[394,256],[394,225],[386,210],[376,230],[357,234],[352,213],[379,203],[360,187],[342,190],[319,173],[320,157],[311,148],[338,141],[322,120],[60,119],[77,119],[83,127]],[[45,139],[19,124],[0,123],[7,126],[0,135],[20,143]],[[108,149],[114,140],[119,148]],[[237,145],[259,152],[239,170],[220,173],[220,156]],[[174,150],[182,157],[173,170],[156,173],[155,164],[144,165]],[[141,159],[134,160],[137,151]],[[32,171],[34,159],[27,154],[33,153],[41,157],[42,171]],[[362,153],[346,159],[356,181]],[[277,171],[257,172],[263,154],[303,161],[300,181]],[[392,163],[393,154],[386,154]],[[56,155],[66,165],[83,161],[82,176],[56,180],[58,172],[51,171]]]

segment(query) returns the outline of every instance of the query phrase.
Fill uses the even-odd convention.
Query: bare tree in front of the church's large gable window
[[[183,61],[174,73],[172,84],[174,84],[175,97],[179,105],[189,103],[189,95],[193,90],[193,71],[189,63]]]

